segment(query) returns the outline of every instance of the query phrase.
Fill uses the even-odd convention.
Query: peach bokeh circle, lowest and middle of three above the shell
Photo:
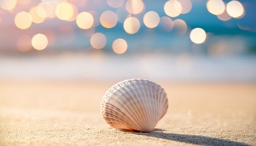
[[[124,21],[124,30],[127,33],[137,33],[140,29],[140,21],[135,17],[129,17]]]

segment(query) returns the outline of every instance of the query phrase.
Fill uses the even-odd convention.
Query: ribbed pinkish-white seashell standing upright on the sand
[[[101,114],[113,128],[151,132],[165,116],[168,99],[154,82],[130,79],[119,82],[105,93]]]

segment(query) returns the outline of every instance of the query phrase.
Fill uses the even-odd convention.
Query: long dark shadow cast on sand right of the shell
[[[178,142],[185,142],[188,144],[196,144],[196,145],[244,145],[247,146],[243,142],[235,142],[229,141],[226,139],[219,139],[215,137],[207,137],[207,136],[197,136],[191,134],[175,134],[175,133],[163,133],[164,130],[155,129],[151,133],[140,133],[140,132],[133,132],[133,134],[143,135],[148,137],[156,137],[159,139],[167,139],[170,141],[178,141]]]

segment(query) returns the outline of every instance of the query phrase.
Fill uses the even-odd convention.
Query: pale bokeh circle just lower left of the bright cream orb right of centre
[[[147,12],[143,17],[143,22],[150,29],[157,27],[160,22],[158,13],[154,11]]]

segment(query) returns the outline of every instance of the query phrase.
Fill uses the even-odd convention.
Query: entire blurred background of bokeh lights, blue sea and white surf
[[[0,0],[0,80],[256,82],[256,1]]]

